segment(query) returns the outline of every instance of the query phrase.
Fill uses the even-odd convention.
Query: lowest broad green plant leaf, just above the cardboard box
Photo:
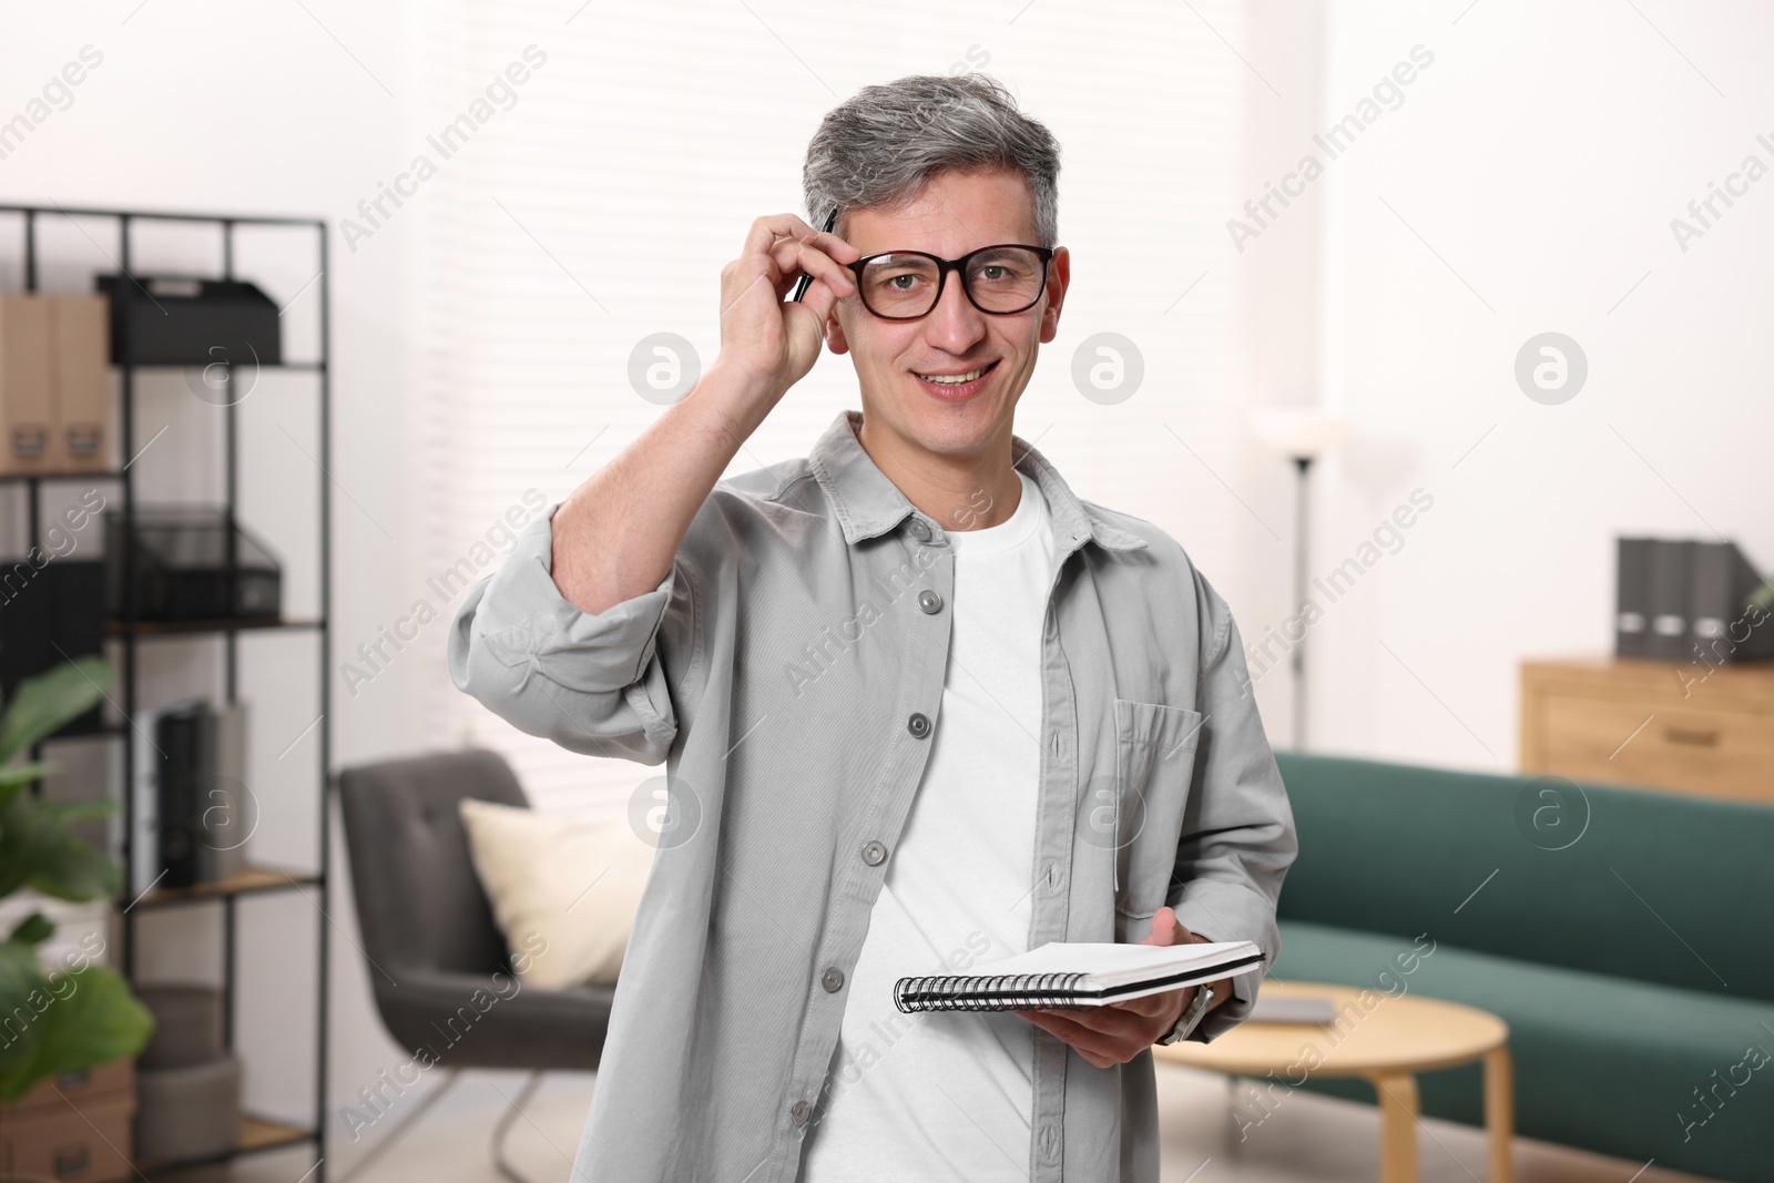
[[[48,991],[30,1052],[0,1050],[0,1101],[20,1100],[48,1077],[133,1057],[154,1034],[154,1016],[108,965],[59,974]]]

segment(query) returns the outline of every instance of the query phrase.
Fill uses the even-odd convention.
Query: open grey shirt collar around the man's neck
[[[917,513],[899,486],[887,479],[887,474],[875,465],[862,442],[857,440],[860,426],[862,411],[839,411],[832,426],[812,445],[812,452],[807,454],[812,475],[825,490],[837,521],[844,529],[844,541],[852,544],[885,534],[899,525],[907,514]],[[1071,493],[1059,470],[1018,435],[1011,435],[1011,456],[1015,465],[1027,472],[1047,495],[1054,534],[1068,553],[1086,539],[1109,550],[1137,550],[1146,544],[1146,539],[1137,534],[1091,513]],[[940,527],[937,529],[940,530]]]

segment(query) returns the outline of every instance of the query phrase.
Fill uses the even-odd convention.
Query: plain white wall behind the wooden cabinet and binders
[[[1685,254],[1669,229],[1746,154],[1774,167],[1770,39],[1754,5],[1329,7],[1322,115],[1295,151],[1267,145],[1283,160],[1412,46],[1435,60],[1286,213],[1325,218],[1320,378],[1354,420],[1318,477],[1313,571],[1414,488],[1435,500],[1309,631],[1313,747],[1513,768],[1519,662],[1613,646],[1616,534],[1717,530],[1774,568],[1774,181]],[[1293,248],[1281,225],[1245,257],[1284,266],[1265,261]],[[1256,326],[1258,351],[1297,348],[1299,323]],[[1547,330],[1590,362],[1559,406],[1513,378]],[[1281,578],[1235,605],[1247,637],[1284,617]],[[1260,686],[1277,734],[1284,683]]]

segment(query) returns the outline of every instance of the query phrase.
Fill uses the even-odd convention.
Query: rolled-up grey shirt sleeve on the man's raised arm
[[[555,587],[553,513],[474,584],[449,630],[449,676],[500,718],[587,756],[658,764],[678,713],[658,646],[669,617],[694,628],[695,580],[672,562],[658,587],[589,614]]]

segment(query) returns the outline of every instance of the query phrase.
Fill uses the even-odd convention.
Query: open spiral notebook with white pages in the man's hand
[[[1261,949],[1249,940],[1196,945],[1050,940],[970,974],[901,977],[892,1000],[905,1013],[1107,1006],[1219,981],[1261,960]]]

